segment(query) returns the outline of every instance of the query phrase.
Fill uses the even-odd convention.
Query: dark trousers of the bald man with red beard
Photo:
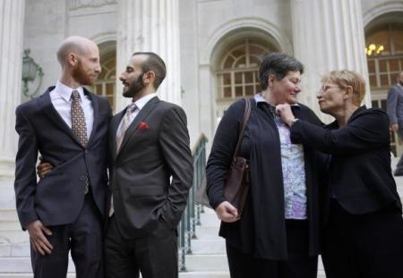
[[[47,240],[53,245],[52,254],[41,256],[31,248],[31,262],[35,278],[65,278],[69,250],[77,278],[102,278],[103,247],[102,221],[93,198],[85,198],[75,222],[49,226]]]

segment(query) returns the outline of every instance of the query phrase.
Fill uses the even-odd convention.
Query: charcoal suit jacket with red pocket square
[[[116,153],[116,131],[124,114],[125,109],[113,117],[108,136],[117,226],[127,239],[146,235],[159,224],[176,229],[193,177],[184,110],[151,98]]]

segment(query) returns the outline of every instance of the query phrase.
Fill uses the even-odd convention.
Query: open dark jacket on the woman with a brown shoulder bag
[[[314,124],[322,122],[304,105],[293,108],[298,117]],[[216,131],[207,163],[207,189],[210,204],[225,200],[224,182],[236,147],[239,123],[244,115],[244,100],[231,105]],[[253,99],[252,112],[244,131],[240,155],[249,160],[251,188],[244,214],[236,223],[221,223],[220,236],[229,244],[254,257],[287,259],[287,235],[284,208],[284,185],[281,166],[279,131],[270,105]],[[319,167],[324,157],[312,147],[304,146],[309,250],[319,253],[322,184]]]

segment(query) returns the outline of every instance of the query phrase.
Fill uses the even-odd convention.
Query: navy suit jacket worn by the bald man
[[[15,130],[20,138],[14,190],[23,229],[38,219],[45,225],[73,223],[84,201],[86,173],[90,175],[99,212],[106,212],[107,124],[111,108],[106,98],[84,89],[94,110],[92,132],[84,148],[52,105],[49,92],[54,88],[16,109]],[[54,165],[39,182],[35,169],[38,152],[44,161]]]

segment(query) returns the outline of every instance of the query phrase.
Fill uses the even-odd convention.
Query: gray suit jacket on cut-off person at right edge
[[[386,107],[390,124],[398,123],[399,135],[403,135],[403,87],[395,85],[390,88]]]

